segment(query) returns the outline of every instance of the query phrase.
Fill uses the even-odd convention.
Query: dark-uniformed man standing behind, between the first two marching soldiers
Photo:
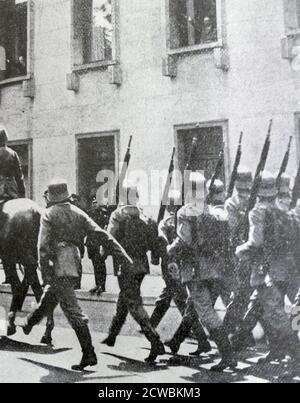
[[[92,208],[89,210],[89,216],[99,225],[106,229],[110,217],[110,209],[108,206],[99,206],[96,198],[92,201]],[[95,248],[89,237],[86,241],[88,257],[93,263],[96,287],[90,290],[91,294],[100,295],[106,291],[106,256],[103,256],[99,248]]]

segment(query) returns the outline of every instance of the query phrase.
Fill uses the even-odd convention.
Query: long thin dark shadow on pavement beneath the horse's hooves
[[[71,350],[69,347],[54,349],[50,346],[34,345],[12,340],[6,336],[0,337],[0,351],[15,351],[20,353],[34,354],[58,354],[69,350]]]

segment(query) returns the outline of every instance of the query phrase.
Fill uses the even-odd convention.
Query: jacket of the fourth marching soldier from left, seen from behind
[[[217,245],[222,227],[227,225],[224,209],[209,206],[204,214],[199,214],[194,206],[186,205],[178,211],[177,222],[177,238],[169,254],[180,256],[183,281],[219,278],[227,252],[221,250],[223,245]]]

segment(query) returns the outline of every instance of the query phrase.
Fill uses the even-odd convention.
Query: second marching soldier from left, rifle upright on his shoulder
[[[139,195],[136,186],[126,184],[124,193],[127,205],[119,207],[110,217],[108,232],[124,247],[133,260],[133,265],[114,262],[115,275],[118,277],[120,293],[116,314],[112,320],[109,335],[103,341],[113,347],[116,338],[126,321],[128,312],[140,325],[142,332],[151,343],[151,351],[146,362],[154,362],[158,355],[165,353],[158,333],[151,325],[150,318],[143,307],[141,285],[149,273],[147,252],[153,253],[153,260],[159,260],[157,248],[157,229],[137,206]]]

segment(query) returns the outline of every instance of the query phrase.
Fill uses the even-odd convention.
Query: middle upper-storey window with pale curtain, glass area
[[[74,65],[113,59],[115,0],[74,0]]]

